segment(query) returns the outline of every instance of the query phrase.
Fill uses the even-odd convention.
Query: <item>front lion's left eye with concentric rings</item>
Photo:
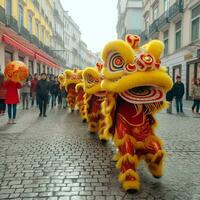
[[[114,53],[110,56],[109,62],[108,62],[108,67],[110,71],[112,72],[121,71],[123,70],[124,65],[125,65],[125,62],[118,53]]]

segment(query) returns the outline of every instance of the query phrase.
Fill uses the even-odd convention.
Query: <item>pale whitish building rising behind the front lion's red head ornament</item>
[[[142,0],[118,0],[118,38],[127,33],[140,34],[142,29]]]

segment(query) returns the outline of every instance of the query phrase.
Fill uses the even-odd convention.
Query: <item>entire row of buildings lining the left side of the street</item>
[[[59,0],[0,0],[1,72],[11,60],[25,62],[31,74],[83,68],[95,54],[80,46],[79,27]]]

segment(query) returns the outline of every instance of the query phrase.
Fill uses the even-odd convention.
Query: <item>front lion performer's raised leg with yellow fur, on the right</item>
[[[149,171],[155,178],[163,175],[163,161],[165,152],[162,150],[161,140],[157,136],[149,136],[145,140],[145,160],[148,164]]]

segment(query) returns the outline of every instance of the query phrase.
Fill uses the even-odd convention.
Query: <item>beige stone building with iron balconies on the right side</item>
[[[158,38],[165,44],[162,64],[175,81],[180,75],[191,98],[200,78],[200,0],[144,0],[142,41]]]

